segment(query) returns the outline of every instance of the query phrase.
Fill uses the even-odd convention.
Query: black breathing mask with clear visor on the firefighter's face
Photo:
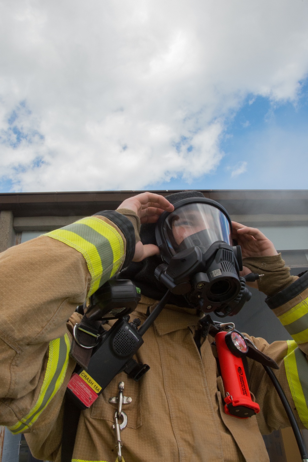
[[[233,316],[251,293],[240,277],[242,252],[233,246],[227,211],[215,201],[190,198],[164,212],[156,226],[156,240],[163,263],[155,276],[191,308],[217,316]]]

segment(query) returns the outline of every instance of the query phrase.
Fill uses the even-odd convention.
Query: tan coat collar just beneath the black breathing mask
[[[153,298],[141,295],[141,300],[137,311],[146,314],[148,307],[150,312],[155,308],[158,301]],[[167,304],[163,311],[157,316],[154,325],[159,335],[169,334],[176,330],[185,329],[187,327],[196,327],[199,320],[204,316],[204,313],[199,314],[197,310],[189,308],[179,308],[175,305]]]

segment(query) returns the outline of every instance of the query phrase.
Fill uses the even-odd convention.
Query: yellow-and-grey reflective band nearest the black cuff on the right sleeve
[[[308,342],[308,298],[278,316],[278,319],[296,343]]]

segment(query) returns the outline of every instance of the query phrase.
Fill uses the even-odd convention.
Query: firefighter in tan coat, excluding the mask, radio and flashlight
[[[167,200],[152,193],[136,195],[117,211],[99,212],[0,254],[0,423],[14,434],[25,433],[36,458],[60,462],[63,401],[76,365],[69,356],[72,329],[80,321],[76,306],[122,270],[141,288],[131,318],[144,322],[166,290],[154,278],[161,259],[153,224],[163,211],[172,213],[172,204],[201,196],[185,192]],[[242,246],[244,273],[264,274],[259,290],[294,340],[269,345],[248,338],[280,366],[276,375],[304,427],[307,274],[290,276],[260,231],[234,223],[233,233]],[[178,234],[176,240],[181,241]],[[213,338],[207,336],[200,352],[194,339],[202,316],[184,297],[170,300],[136,355],[151,370],[139,382],[118,374],[81,413],[73,462],[115,461],[115,406],[109,398],[117,394],[120,381],[132,398],[125,405],[122,460],[269,461],[261,434],[290,425],[277,392],[263,367],[248,359],[249,388],[260,413],[250,419],[224,413]]]

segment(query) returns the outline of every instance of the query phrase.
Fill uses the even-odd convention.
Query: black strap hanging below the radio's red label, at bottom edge
[[[64,403],[61,462],[72,462],[81,410],[67,396]]]

